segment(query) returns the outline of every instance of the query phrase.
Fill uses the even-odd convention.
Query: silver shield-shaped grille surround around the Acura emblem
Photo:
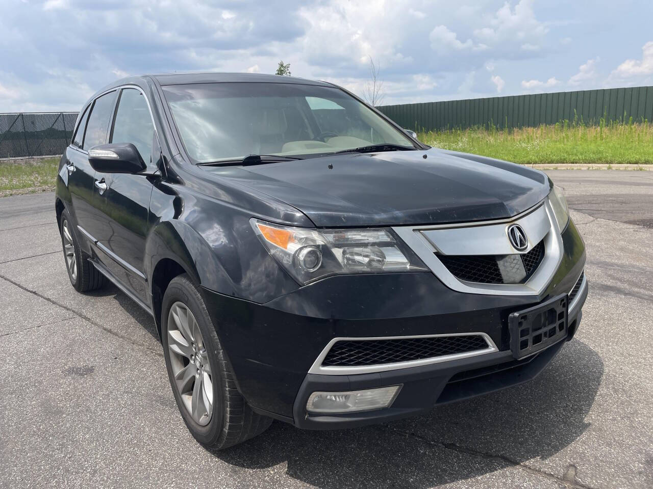
[[[507,229],[511,224],[520,224],[526,231],[528,247],[523,252],[518,252],[510,244]],[[549,198],[528,211],[507,219],[435,226],[395,226],[392,229],[445,286],[463,293],[539,295],[547,287],[562,261],[562,236]],[[438,254],[525,254],[540,241],[544,241],[545,256],[524,284],[466,282],[456,278],[438,259]]]

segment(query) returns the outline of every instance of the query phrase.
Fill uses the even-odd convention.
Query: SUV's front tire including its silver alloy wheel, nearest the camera
[[[270,426],[272,419],[255,413],[236,389],[204,300],[186,274],[172,279],[163,295],[161,340],[183,422],[204,447],[226,449]],[[211,402],[211,413],[206,414]]]

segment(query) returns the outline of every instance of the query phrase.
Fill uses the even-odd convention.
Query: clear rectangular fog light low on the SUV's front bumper
[[[401,385],[349,391],[344,393],[313,393],[306,403],[309,413],[353,413],[389,408],[396,398]]]

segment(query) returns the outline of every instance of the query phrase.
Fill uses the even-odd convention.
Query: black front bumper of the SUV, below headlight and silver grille
[[[559,342],[515,361],[508,316],[570,291],[582,272],[584,245],[573,222],[562,233],[564,254],[539,295],[485,295],[447,288],[432,273],[334,276],[266,304],[203,289],[240,393],[260,413],[300,428],[330,429],[390,421],[517,385],[534,378],[558,353]],[[581,320],[587,286],[579,291],[568,324]],[[400,370],[357,375],[309,374],[321,351],[338,337],[483,333],[498,351]],[[348,415],[309,415],[314,391],[353,391],[402,384],[390,408]]]

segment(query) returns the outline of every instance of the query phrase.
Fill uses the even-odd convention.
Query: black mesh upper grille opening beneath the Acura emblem
[[[511,255],[507,255],[510,257]],[[505,280],[505,271],[502,273],[498,261],[505,259],[506,255],[438,255],[439,260],[456,278],[466,282],[479,284],[523,284],[535,273],[544,258],[544,240],[537,243],[528,253],[517,255],[521,258],[524,267],[517,282]],[[517,263],[519,263],[517,261]],[[525,273],[525,275],[524,275]]]

